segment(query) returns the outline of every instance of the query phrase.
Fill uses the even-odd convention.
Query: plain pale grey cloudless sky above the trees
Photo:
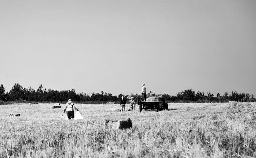
[[[256,95],[255,0],[0,0],[0,84]]]

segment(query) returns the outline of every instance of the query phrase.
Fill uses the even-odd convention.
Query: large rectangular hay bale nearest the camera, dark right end
[[[131,127],[132,127],[132,123],[130,118],[122,118],[119,120],[105,119],[105,128],[126,129]]]

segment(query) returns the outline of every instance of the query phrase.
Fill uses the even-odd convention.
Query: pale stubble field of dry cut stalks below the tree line
[[[119,105],[75,104],[83,120],[63,120],[53,104],[2,105],[0,157],[256,157],[256,103],[179,103],[156,111],[115,112]],[[127,105],[126,109],[129,108]],[[20,113],[20,117],[9,117]],[[129,117],[132,128],[104,128]]]

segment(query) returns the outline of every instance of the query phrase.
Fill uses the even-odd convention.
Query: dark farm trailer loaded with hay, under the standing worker
[[[140,112],[148,109],[156,109],[157,112],[168,109],[168,104],[165,102],[162,95],[148,97],[146,101],[138,102],[138,105]]]

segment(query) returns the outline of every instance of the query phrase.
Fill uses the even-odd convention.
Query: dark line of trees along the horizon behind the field
[[[10,92],[5,93],[5,88],[3,84],[0,85],[0,100],[3,102],[58,102],[65,103],[68,99],[73,102],[84,103],[84,104],[105,104],[107,102],[119,103],[122,95],[126,96],[138,96],[141,98],[141,94],[119,94],[118,96],[113,96],[111,93],[106,93],[101,91],[100,93],[92,93],[91,95],[80,92],[76,93],[74,89],[71,90],[46,90],[43,88],[42,84],[37,90],[32,89],[30,86],[28,88],[23,88],[19,83],[15,84]],[[169,94],[162,94],[168,103],[189,103],[189,102],[254,102],[254,95],[249,93],[238,93],[237,91],[231,91],[230,94],[225,92],[223,96],[216,94],[216,96],[211,93],[204,93],[198,91],[197,93],[192,89],[186,89],[182,92],[177,93],[175,96]]]

